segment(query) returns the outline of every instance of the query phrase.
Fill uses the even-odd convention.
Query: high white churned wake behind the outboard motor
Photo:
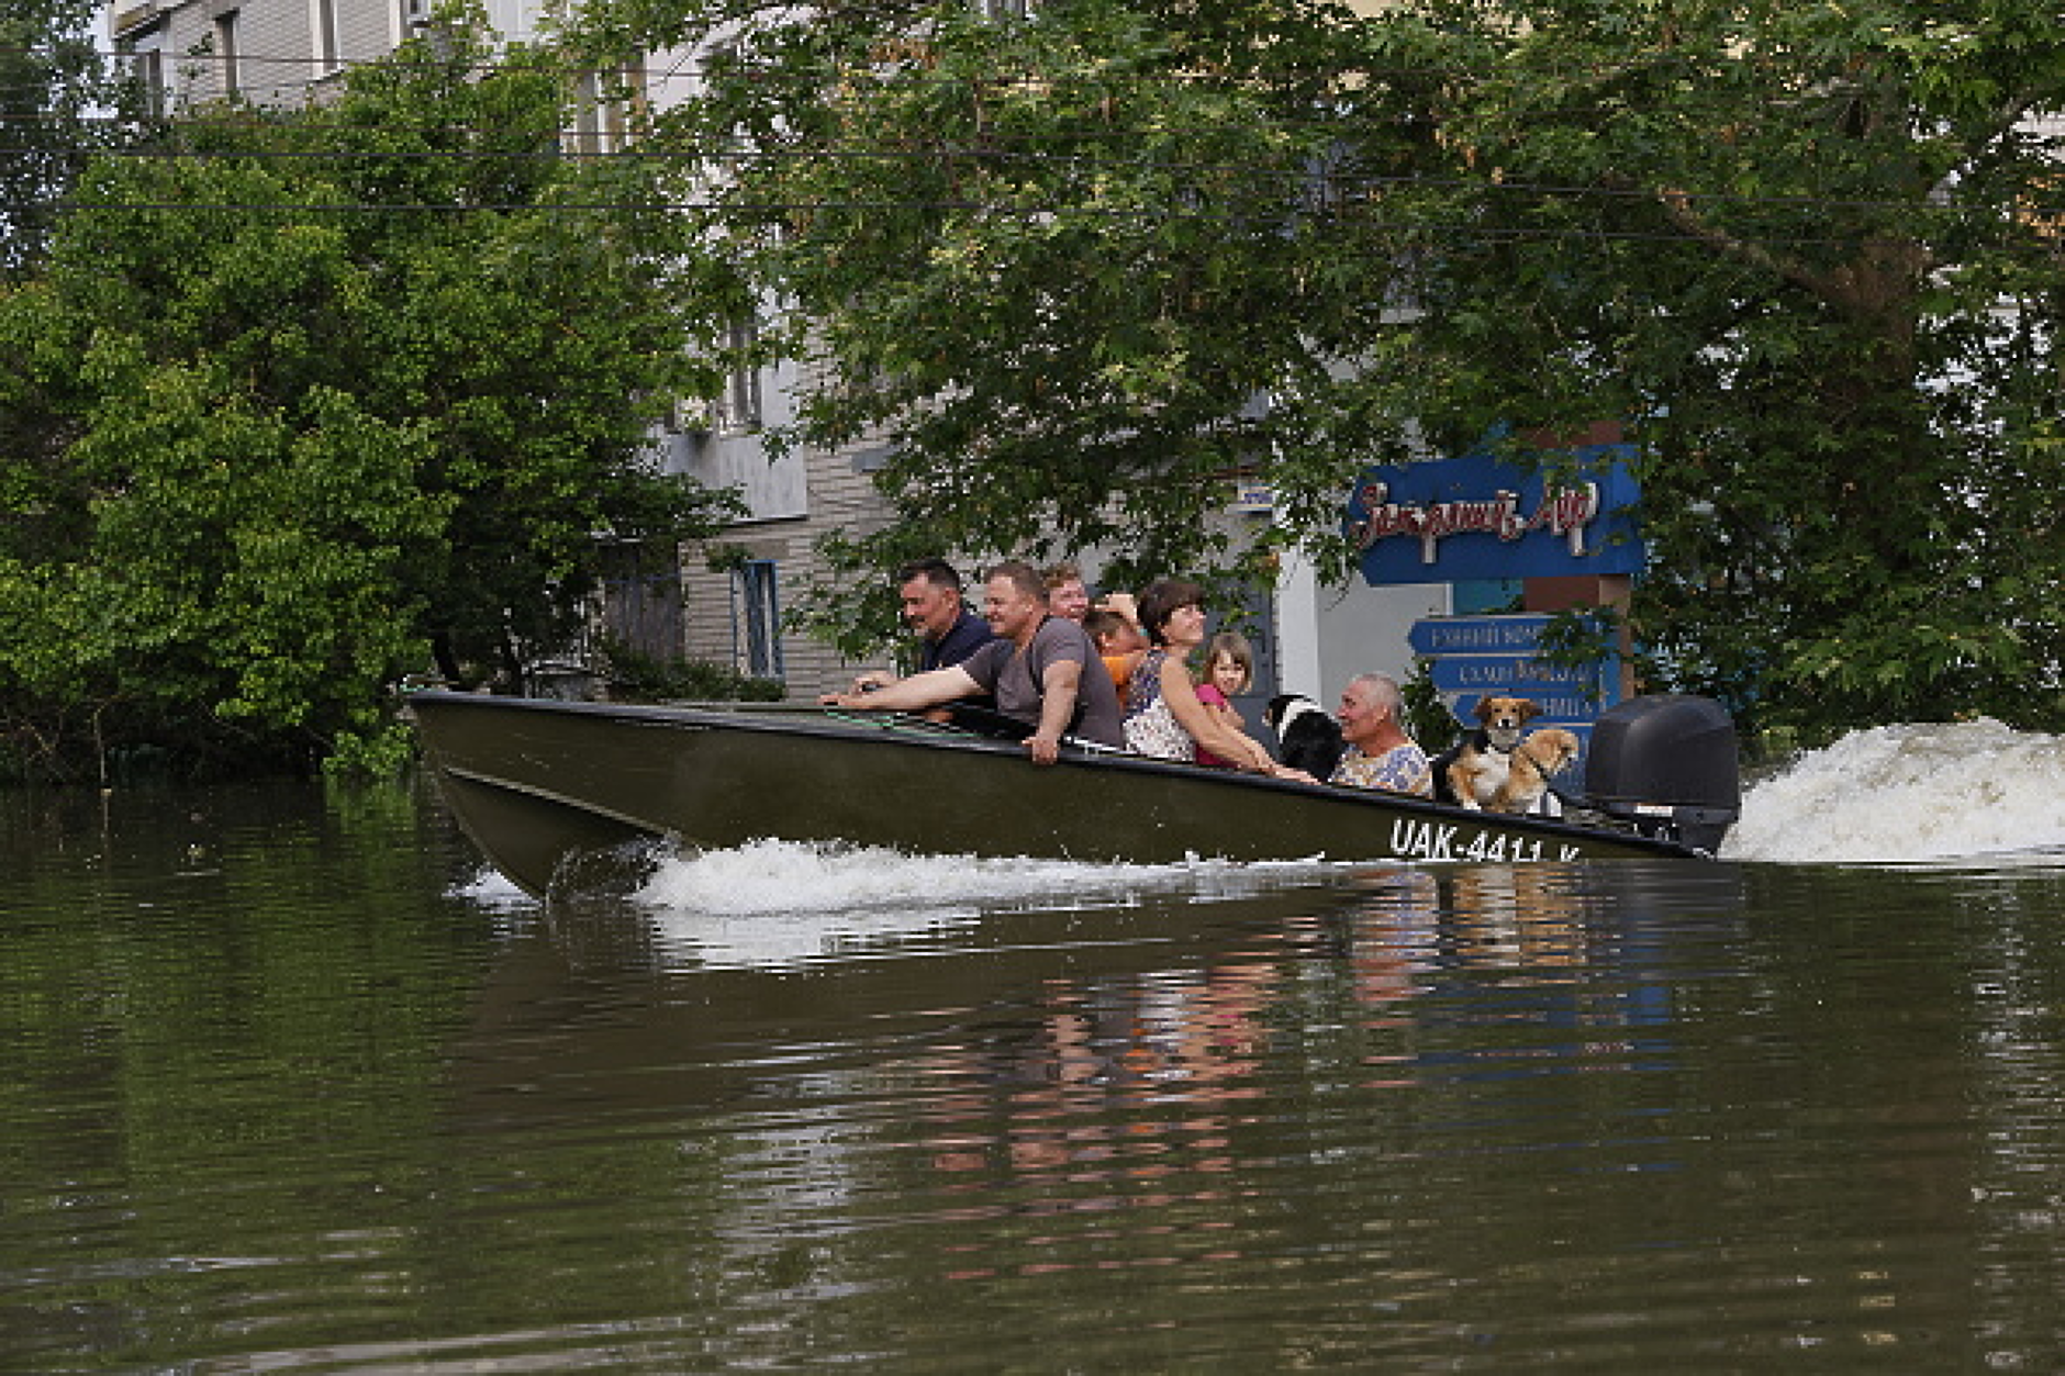
[[[1753,783],[1724,859],[2065,862],[2065,738],[1993,719],[1852,731]]]

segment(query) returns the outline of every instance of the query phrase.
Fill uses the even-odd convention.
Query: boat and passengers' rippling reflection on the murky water
[[[925,959],[904,963],[690,973],[665,940],[609,946],[609,913],[564,911],[553,955],[572,963],[529,971],[560,990],[496,998],[467,1074],[504,1134],[512,1112],[636,1136],[640,1118],[663,1132],[684,1116],[665,1192],[694,1207],[669,1217],[712,1248],[702,1283],[748,1314],[791,1306],[797,1322],[805,1306],[836,1326],[863,1295],[902,1308],[973,1287],[981,1304],[997,1285],[1167,1273],[1200,1295],[1177,1306],[1187,1322],[1268,1328],[1243,1304],[1212,1314],[1212,1295],[1268,1289],[1286,1264],[1417,1293],[1406,1273],[1431,1256],[1371,1258],[1338,1229],[1375,1223],[1371,1200],[1400,1205],[1400,1182],[1456,1149],[1563,1143],[1563,1112],[1516,1076],[1631,1068],[1635,1033],[1671,1014],[1644,930],[1658,913],[1631,903],[1652,888],[1695,899],[1708,934],[1741,930],[1724,870],[1687,890],[1633,870],[1602,888],[1582,870],[1396,868],[1138,901],[1097,913],[1094,942],[1074,940],[1080,913],[1006,911],[981,940],[915,928]],[[541,1101],[553,1076],[578,1105]],[[1487,1093],[1505,1103],[1489,1118]],[[1481,1227],[1483,1207],[1423,1200],[1381,1231]],[[1317,1250],[1291,1262],[1284,1246]]]

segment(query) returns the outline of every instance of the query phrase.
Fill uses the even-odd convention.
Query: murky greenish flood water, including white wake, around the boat
[[[539,905],[419,785],[0,795],[0,1368],[2059,1370],[2061,798]]]

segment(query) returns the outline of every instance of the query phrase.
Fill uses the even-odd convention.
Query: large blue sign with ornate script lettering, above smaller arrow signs
[[[1491,455],[1365,469],[1344,523],[1363,578],[1384,587],[1640,572],[1633,446],[1571,455],[1576,463],[1553,473]]]

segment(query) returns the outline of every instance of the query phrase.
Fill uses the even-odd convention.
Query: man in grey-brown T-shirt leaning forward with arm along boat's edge
[[[913,674],[876,692],[826,694],[826,707],[923,711],[993,694],[997,711],[1030,729],[1026,754],[1053,764],[1061,738],[1123,746],[1119,694],[1082,626],[1047,614],[1047,585],[1030,564],[997,564],[983,587],[997,634],[956,665]]]

